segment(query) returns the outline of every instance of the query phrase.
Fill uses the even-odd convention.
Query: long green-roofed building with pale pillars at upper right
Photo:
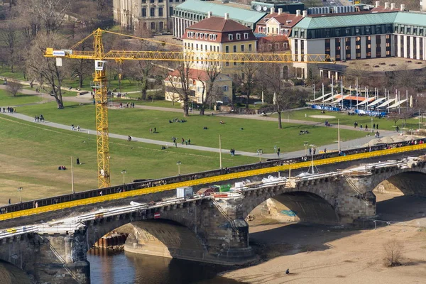
[[[426,60],[426,13],[387,5],[367,12],[303,17],[291,31],[295,67],[307,75],[305,54],[341,60],[401,57]],[[380,9],[381,12],[378,12]]]

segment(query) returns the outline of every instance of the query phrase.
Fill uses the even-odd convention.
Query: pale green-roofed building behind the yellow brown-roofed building
[[[173,13],[173,35],[176,38],[182,38],[185,28],[207,18],[209,11],[212,12],[212,16],[223,16],[224,13],[229,13],[231,20],[252,30],[256,23],[266,15],[263,12],[251,11],[249,5],[223,3],[222,1],[187,0],[177,6]]]

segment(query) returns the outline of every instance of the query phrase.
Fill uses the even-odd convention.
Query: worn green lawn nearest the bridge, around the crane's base
[[[23,200],[59,195],[71,191],[70,157],[79,157],[75,165],[75,190],[97,187],[96,137],[82,132],[52,129],[43,124],[0,115],[0,204],[9,198],[17,202],[17,187],[23,187]],[[160,150],[160,146],[128,143],[111,139],[111,184],[141,178],[176,175],[219,168],[217,153],[182,148]],[[222,155],[224,166],[255,163],[257,158]],[[65,165],[68,170],[58,170]]]

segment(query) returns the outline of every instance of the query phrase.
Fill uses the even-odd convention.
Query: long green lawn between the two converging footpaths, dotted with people
[[[80,125],[82,128],[94,129],[94,106],[67,103],[65,109],[56,109],[54,103],[20,107],[19,112],[28,116],[43,114],[48,121],[66,125]],[[191,139],[192,144],[219,148],[219,134],[222,135],[223,148],[235,148],[236,151],[251,151],[262,148],[264,153],[273,153],[278,146],[282,152],[296,151],[304,148],[304,141],[318,146],[334,143],[337,129],[322,126],[283,124],[273,121],[236,119],[231,117],[199,116],[194,114],[185,123],[169,123],[169,119],[182,119],[182,114],[168,111],[151,111],[142,109],[109,109],[109,131],[143,138],[167,141],[172,136]],[[224,124],[219,121],[223,120]],[[207,126],[207,130],[203,127]],[[150,133],[149,129],[158,133]],[[243,128],[243,130],[241,130]],[[310,134],[299,135],[300,130]],[[360,131],[342,130],[343,141],[364,136]]]

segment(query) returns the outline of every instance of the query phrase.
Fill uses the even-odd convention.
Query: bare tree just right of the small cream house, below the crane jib
[[[250,96],[253,89],[256,87],[256,73],[260,68],[259,63],[246,62],[240,64],[238,67],[238,74],[236,75],[236,83],[239,85],[240,91],[246,95],[246,108],[249,108]]]

